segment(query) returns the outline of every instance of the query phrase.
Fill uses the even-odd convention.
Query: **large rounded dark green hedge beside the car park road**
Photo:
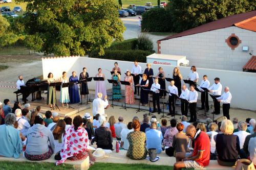
[[[143,32],[172,32],[172,16],[164,8],[153,8],[143,13],[141,30]]]

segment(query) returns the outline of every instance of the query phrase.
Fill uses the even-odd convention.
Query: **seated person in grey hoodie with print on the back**
[[[25,157],[33,161],[49,159],[54,152],[53,134],[44,126],[42,117],[35,116],[34,123],[35,125],[28,130]]]

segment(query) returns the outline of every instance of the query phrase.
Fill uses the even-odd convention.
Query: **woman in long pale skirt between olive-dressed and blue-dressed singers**
[[[62,72],[62,77],[60,78],[61,86],[60,86],[60,102],[62,103],[62,106],[64,106],[64,103],[66,105],[69,105],[69,87],[62,87],[63,83],[68,83],[69,79],[67,78],[67,72]]]

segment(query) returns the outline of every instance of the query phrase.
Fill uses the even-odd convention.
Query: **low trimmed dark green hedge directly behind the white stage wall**
[[[106,49],[103,56],[98,55],[98,51],[92,51],[89,55],[91,58],[102,58],[121,61],[135,61],[146,62],[146,56],[155,53],[155,51],[143,50],[111,50]]]

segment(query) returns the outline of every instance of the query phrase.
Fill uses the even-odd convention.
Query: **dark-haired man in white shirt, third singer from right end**
[[[203,80],[200,84],[200,87],[204,87],[204,88],[208,89],[209,86],[210,86],[210,82],[207,80],[207,75],[204,75]],[[204,91],[200,87],[199,87],[199,89],[201,91],[201,103],[202,103],[200,110],[206,109],[206,111],[209,111],[208,92]]]

